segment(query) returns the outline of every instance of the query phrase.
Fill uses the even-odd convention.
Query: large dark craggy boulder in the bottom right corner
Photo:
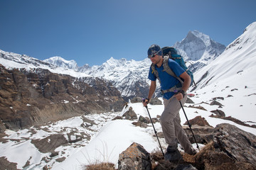
[[[213,142],[195,157],[198,169],[256,169],[255,135],[230,124],[217,125]]]

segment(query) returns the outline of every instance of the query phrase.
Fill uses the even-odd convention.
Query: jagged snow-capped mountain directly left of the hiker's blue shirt
[[[111,81],[124,98],[126,96],[142,96],[148,86],[149,65],[149,59],[127,61],[124,58],[115,60],[111,57],[101,66],[93,66],[85,73]]]

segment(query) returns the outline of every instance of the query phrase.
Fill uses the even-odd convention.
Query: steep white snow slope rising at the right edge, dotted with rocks
[[[256,22],[232,42],[216,60],[200,69],[194,77],[195,93],[210,101],[224,97],[223,111],[242,121],[256,120]],[[203,75],[207,76],[202,79]],[[233,97],[226,98],[228,95]],[[252,119],[251,119],[252,118]]]

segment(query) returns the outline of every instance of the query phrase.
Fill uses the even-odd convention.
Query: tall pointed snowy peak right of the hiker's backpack
[[[186,60],[212,61],[225,50],[225,45],[212,40],[198,30],[189,31],[186,38],[174,45]]]

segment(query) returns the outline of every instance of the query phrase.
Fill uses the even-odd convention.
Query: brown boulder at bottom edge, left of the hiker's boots
[[[151,159],[149,152],[146,152],[142,145],[132,143],[124,152],[119,154],[119,170],[151,170]]]

